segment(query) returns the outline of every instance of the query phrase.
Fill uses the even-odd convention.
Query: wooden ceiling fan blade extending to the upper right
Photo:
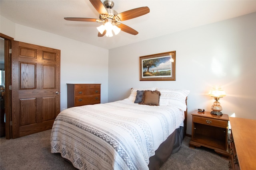
[[[148,14],[149,12],[150,12],[149,8],[147,6],[144,6],[144,7],[128,10],[125,12],[121,12],[120,14],[117,14],[116,16],[118,16],[118,18],[121,21],[125,21],[125,20],[130,20],[132,18],[136,18],[139,16],[143,16],[145,14]]]

